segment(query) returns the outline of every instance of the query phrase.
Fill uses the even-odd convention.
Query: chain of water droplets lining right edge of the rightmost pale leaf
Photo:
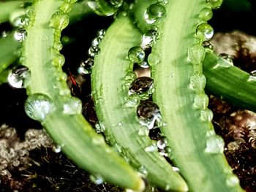
[[[195,93],[194,107],[196,110],[200,111],[200,120],[206,123],[211,123],[213,113],[208,109],[209,99],[204,93],[206,77],[203,75],[202,64],[206,53],[212,53],[214,51],[214,47],[210,42],[210,39],[214,35],[214,30],[207,21],[212,17],[212,9],[217,9],[221,3],[222,1],[218,0],[206,0],[206,7],[200,10],[200,23],[195,28],[197,43],[187,50],[188,61],[193,65],[194,69],[194,74],[190,77],[189,84],[189,87]],[[219,55],[218,59],[225,59],[228,61],[229,58],[224,58],[224,56],[225,55]],[[215,134],[213,126],[209,126],[208,130],[206,130],[205,152],[210,154],[223,153],[224,146],[225,143],[222,137]]]

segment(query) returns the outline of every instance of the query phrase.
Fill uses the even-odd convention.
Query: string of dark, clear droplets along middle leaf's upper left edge
[[[94,66],[94,57],[100,52],[99,44],[102,42],[102,39],[105,36],[105,32],[105,29],[97,31],[97,37],[91,41],[91,47],[89,47],[88,50],[89,58],[83,60],[80,63],[80,66],[78,67],[78,74],[91,74],[92,68]]]

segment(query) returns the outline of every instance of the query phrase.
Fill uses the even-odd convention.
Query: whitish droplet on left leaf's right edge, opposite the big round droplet
[[[76,97],[69,98],[63,105],[63,112],[67,115],[80,114],[82,112],[82,101]]]

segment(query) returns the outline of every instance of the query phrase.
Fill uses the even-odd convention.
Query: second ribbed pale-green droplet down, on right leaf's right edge
[[[206,87],[206,77],[203,74],[194,74],[190,77],[190,88],[196,93],[204,93]]]

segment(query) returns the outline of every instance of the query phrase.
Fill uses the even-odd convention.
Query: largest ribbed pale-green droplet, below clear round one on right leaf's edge
[[[187,58],[192,64],[202,64],[206,50],[201,45],[194,45],[187,50]]]

